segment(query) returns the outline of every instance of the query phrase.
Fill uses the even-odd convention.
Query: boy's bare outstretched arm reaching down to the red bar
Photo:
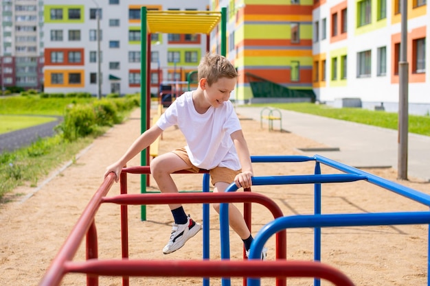
[[[122,157],[117,160],[112,165],[106,167],[106,172],[104,173],[104,177],[106,177],[109,173],[113,172],[116,175],[115,181],[117,182],[120,179],[120,173],[122,171],[122,168],[127,164],[129,160],[131,160],[134,156],[142,152],[145,148],[147,148],[152,142],[155,141],[155,139],[158,138],[158,136],[161,135],[163,130],[159,128],[157,125],[152,126],[148,130],[146,130],[142,135],[139,136],[131,144],[130,147],[128,147],[128,150],[122,155]]]

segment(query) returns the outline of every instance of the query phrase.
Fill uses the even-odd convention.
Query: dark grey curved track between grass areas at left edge
[[[60,120],[58,118],[56,121],[0,134],[0,154],[4,151],[14,151],[30,145],[37,141],[38,138],[52,136],[54,134],[54,127],[60,123]]]

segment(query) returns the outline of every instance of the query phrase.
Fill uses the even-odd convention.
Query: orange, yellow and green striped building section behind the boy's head
[[[313,0],[211,1],[212,10],[221,7],[227,7],[227,58],[240,74],[235,99],[312,100]],[[211,38],[216,52],[218,34]]]

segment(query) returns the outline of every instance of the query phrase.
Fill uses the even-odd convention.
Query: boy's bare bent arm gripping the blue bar
[[[242,166],[242,173],[238,174],[238,176],[234,178],[234,182],[238,188],[249,188],[252,185],[251,178],[253,176],[253,169],[247,141],[245,141],[242,130],[237,130],[231,133],[231,139],[234,142],[236,152],[238,152],[240,165]]]

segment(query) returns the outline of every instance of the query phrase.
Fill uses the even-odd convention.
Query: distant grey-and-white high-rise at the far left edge
[[[43,85],[43,3],[2,0],[0,5],[1,88]]]

